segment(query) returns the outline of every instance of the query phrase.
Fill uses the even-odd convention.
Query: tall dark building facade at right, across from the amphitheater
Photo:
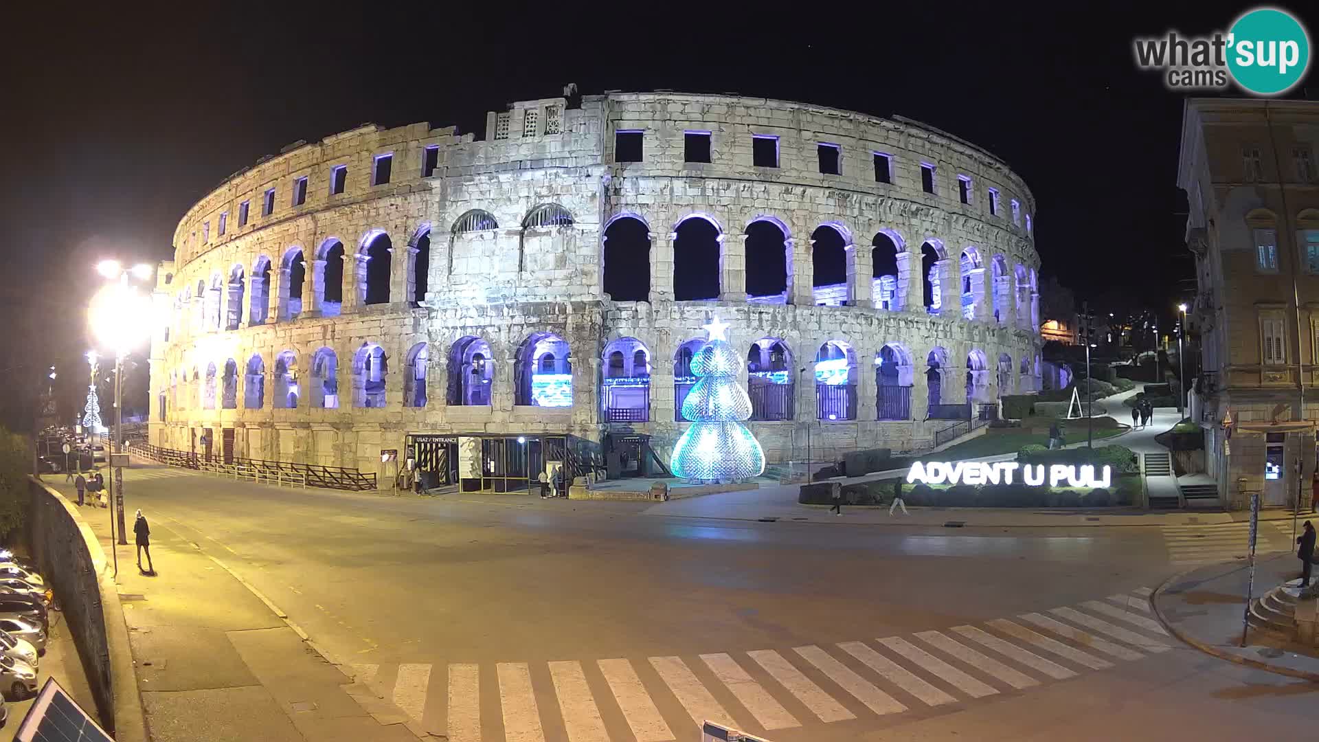
[[[1319,103],[1190,99],[1178,185],[1203,372],[1191,411],[1223,504],[1310,507],[1319,401]]]

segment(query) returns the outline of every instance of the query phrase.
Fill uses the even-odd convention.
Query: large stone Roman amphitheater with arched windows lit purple
[[[385,478],[398,452],[496,491],[654,470],[714,317],[770,463],[929,449],[1039,386],[1034,198],[956,136],[571,90],[484,133],[363,125],[193,206],[157,272],[149,442]]]

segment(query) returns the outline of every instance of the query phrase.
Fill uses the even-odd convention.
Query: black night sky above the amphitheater
[[[1078,298],[1162,310],[1192,293],[1175,187],[1182,98],[1136,70],[1130,44],[1223,29],[1249,4],[893,5],[7,8],[0,301],[8,347],[24,353],[0,366],[44,379],[55,363],[84,379],[92,263],[170,257],[189,206],[285,144],[364,121],[481,136],[487,111],[568,82],[584,94],[739,92],[926,121],[1025,178],[1042,272]]]

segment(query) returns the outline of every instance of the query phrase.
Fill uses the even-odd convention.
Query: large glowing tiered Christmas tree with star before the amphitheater
[[[673,473],[692,483],[740,482],[765,471],[765,452],[741,424],[751,417],[751,397],[737,384],[741,358],[728,345],[725,322],[704,326],[708,341],[691,358],[696,384],[682,403],[691,420],[673,446]]]

